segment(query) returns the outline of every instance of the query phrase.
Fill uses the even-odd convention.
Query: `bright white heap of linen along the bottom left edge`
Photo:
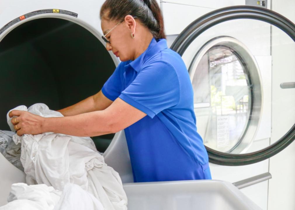
[[[16,183],[12,185],[7,200],[9,203],[0,210],[104,209],[98,199],[76,184],[66,184],[62,192],[45,184]]]

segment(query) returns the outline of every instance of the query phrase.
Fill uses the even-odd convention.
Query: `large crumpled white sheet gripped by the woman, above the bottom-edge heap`
[[[29,111],[42,117],[63,116],[41,103],[28,109],[19,106],[12,110]],[[14,130],[12,118],[9,118],[8,113],[7,122]],[[57,133],[22,136],[15,134],[13,141],[15,144],[21,143],[22,146],[20,160],[26,173],[27,184],[46,184],[64,191],[64,187],[72,183],[92,194],[104,209],[127,209],[127,196],[119,174],[104,163],[104,157],[96,151],[91,138]],[[64,196],[67,197],[71,196]]]

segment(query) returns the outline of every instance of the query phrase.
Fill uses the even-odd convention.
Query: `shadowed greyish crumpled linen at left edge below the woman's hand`
[[[21,144],[14,143],[12,140],[14,134],[12,131],[0,130],[0,152],[15,167],[24,171],[20,162]]]

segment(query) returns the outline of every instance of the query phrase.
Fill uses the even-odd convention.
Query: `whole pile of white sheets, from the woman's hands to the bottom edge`
[[[63,116],[41,103],[12,110],[29,111],[42,117]],[[7,122],[15,131],[11,119],[7,114]],[[31,205],[28,209],[127,209],[127,196],[119,174],[104,163],[90,137],[42,133],[14,134],[12,139],[15,144],[21,144],[20,161],[27,185],[12,185],[9,203],[0,210],[15,209],[12,208],[15,203]]]

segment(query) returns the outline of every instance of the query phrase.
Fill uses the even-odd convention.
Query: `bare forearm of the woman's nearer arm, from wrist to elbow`
[[[97,136],[112,133],[112,126],[104,111],[74,116],[45,118],[42,131],[73,136]]]

